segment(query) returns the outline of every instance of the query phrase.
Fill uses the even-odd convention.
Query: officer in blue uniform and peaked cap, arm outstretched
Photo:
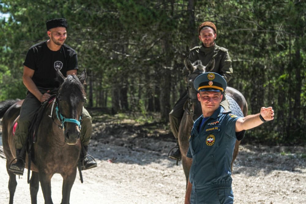
[[[221,106],[225,79],[214,72],[203,73],[194,81],[202,113],[189,138],[187,157],[192,160],[185,204],[233,203],[231,161],[236,132],[254,128],[274,119],[272,107],[239,117]]]

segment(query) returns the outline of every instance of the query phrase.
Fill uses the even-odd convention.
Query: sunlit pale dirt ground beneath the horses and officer
[[[105,118],[104,118],[105,119]],[[185,176],[181,163],[167,158],[175,145],[160,124],[113,119],[95,121],[90,153],[98,167],[83,172],[73,185],[70,203],[184,202]],[[306,203],[306,148],[241,145],[234,164],[235,203]],[[8,176],[0,159],[0,203],[8,203]],[[25,170],[25,174],[27,170]],[[14,203],[30,203],[26,176],[17,178]],[[52,198],[61,202],[62,179],[52,178]],[[44,203],[41,188],[38,203]]]

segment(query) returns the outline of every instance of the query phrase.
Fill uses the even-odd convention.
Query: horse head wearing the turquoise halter
[[[84,70],[79,77],[68,75],[65,78],[58,69],[56,75],[60,83],[56,95],[56,114],[64,130],[65,143],[74,145],[80,138],[82,109],[86,100],[83,87],[87,77],[86,71]]]

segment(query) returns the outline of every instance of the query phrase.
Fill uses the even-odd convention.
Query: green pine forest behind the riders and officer
[[[0,0],[0,101],[24,98],[23,62],[30,46],[48,39],[45,22],[68,21],[66,44],[88,73],[88,108],[141,113],[168,124],[186,90],[183,61],[199,45],[198,25],[217,27],[249,114],[273,106],[274,121],[245,140],[305,145],[306,6],[300,0]],[[153,120],[156,120],[153,118]]]

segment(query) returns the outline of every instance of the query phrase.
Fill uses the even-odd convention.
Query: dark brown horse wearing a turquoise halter
[[[45,203],[53,203],[50,181],[55,173],[59,173],[63,177],[62,204],[68,204],[70,191],[76,178],[76,169],[81,150],[78,122],[85,100],[83,83],[86,79],[86,72],[83,71],[79,78],[75,75],[69,75],[65,78],[57,70],[57,78],[61,85],[56,95],[56,102],[53,108],[52,104],[49,104],[46,112],[43,113],[44,115],[36,133],[37,141],[33,144],[35,162],[31,163],[32,176],[30,180],[32,203],[37,203],[39,182]],[[9,174],[10,204],[13,203],[17,186],[16,175],[8,170],[10,162],[16,158],[13,125],[18,121],[22,102],[14,103],[10,107],[9,105],[12,101],[0,103],[0,118],[3,116],[3,150],[6,155],[6,169]],[[61,126],[63,126],[62,129],[59,128]],[[26,161],[26,168],[28,168],[27,164],[28,161]]]

